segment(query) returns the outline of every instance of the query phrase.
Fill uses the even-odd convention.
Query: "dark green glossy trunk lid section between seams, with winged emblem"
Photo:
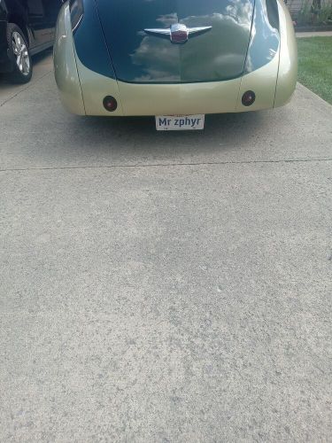
[[[122,82],[216,82],[243,74],[254,0],[96,2]]]

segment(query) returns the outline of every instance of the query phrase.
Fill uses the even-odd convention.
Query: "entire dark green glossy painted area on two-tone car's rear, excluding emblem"
[[[276,0],[267,1],[276,5]],[[122,82],[230,80],[266,65],[279,46],[279,31],[267,18],[266,0],[206,0],[204,4],[200,0],[96,0],[96,4],[84,0],[86,13],[73,37],[77,55],[84,66]],[[270,7],[269,15],[275,11]],[[181,46],[143,31],[178,22],[212,29]]]

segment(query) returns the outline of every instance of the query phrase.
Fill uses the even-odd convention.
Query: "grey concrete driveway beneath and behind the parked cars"
[[[332,107],[80,118],[0,83],[0,440],[332,439]]]

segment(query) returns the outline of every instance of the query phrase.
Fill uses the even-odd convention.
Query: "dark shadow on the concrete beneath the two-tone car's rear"
[[[135,152],[157,159],[188,155],[193,149],[205,154],[247,145],[273,118],[264,113],[224,113],[205,117],[205,129],[157,131],[154,117],[77,117],[66,121],[66,138],[79,144],[89,156],[107,152]]]

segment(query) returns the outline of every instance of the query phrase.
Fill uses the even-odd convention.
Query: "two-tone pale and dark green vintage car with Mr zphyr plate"
[[[54,63],[68,111],[152,115],[160,130],[285,105],[297,82],[282,0],[70,0]]]

